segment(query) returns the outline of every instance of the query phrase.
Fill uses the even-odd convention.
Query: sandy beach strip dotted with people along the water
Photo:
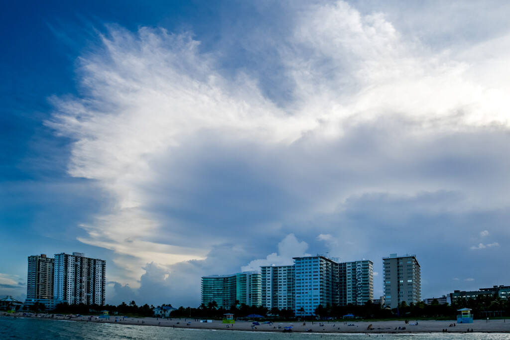
[[[2,313],[4,315],[4,313]],[[189,318],[173,318],[163,320],[160,318],[124,318],[122,316],[110,316],[110,319],[99,319],[97,316],[54,316],[51,314],[28,314],[23,313],[10,314],[10,317],[16,318],[43,318],[52,320],[72,320],[80,322],[94,323],[116,323],[125,325],[143,325],[143,326],[160,326],[160,327],[179,327],[179,328],[201,328],[201,329],[226,329],[226,330],[246,330],[246,331],[283,331],[285,327],[292,326],[293,332],[328,332],[328,333],[427,333],[427,332],[448,332],[465,333],[468,328],[474,332],[510,332],[510,320],[474,320],[472,324],[456,324],[451,321],[437,320],[410,320],[405,324],[403,320],[392,321],[347,321],[347,322],[319,322],[307,321],[303,322],[274,322],[272,324],[264,324],[260,322],[259,326],[252,328],[252,321],[236,321],[235,324],[223,324],[221,321],[213,320],[213,322],[200,322],[197,319]],[[416,324],[418,323],[418,324]],[[351,325],[351,326],[349,326]],[[353,326],[352,326],[353,325]],[[399,329],[400,327],[400,329]],[[405,327],[405,329],[402,329]],[[370,328],[370,329],[369,329]]]

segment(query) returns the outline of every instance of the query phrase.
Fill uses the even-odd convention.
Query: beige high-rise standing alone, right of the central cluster
[[[421,299],[421,272],[416,255],[382,258],[385,304],[397,308],[403,301],[416,304]]]

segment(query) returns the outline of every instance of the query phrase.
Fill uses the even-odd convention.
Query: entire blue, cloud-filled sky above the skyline
[[[416,254],[422,298],[510,284],[510,3],[4,1],[0,296],[107,261],[107,303]]]

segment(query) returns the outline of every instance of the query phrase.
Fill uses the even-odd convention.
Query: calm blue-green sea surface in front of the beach
[[[380,338],[372,334],[370,338]],[[510,334],[503,333],[470,333],[470,334],[384,334],[383,338],[397,340],[405,338],[413,340],[439,339],[488,339],[503,340],[510,338]],[[96,324],[75,321],[57,321],[44,319],[22,319],[0,317],[0,339],[30,339],[30,340],[85,340],[85,339],[362,339],[366,334],[317,334],[317,333],[273,333],[273,332],[243,332],[234,330],[203,330],[179,329],[156,326],[130,326],[115,324]]]

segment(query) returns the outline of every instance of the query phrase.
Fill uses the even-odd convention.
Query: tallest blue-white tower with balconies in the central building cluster
[[[339,303],[339,266],[324,256],[294,257],[295,313],[312,315],[319,305]]]

